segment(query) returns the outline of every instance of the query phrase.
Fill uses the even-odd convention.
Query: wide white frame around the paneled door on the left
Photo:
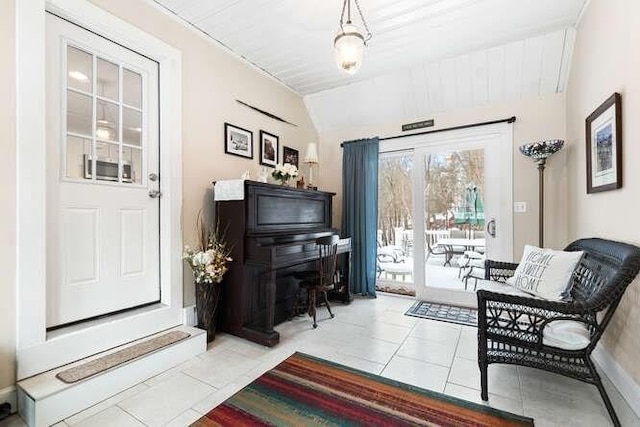
[[[46,331],[45,10],[130,47],[160,67],[159,304]],[[16,1],[17,378],[182,323],[182,64],[170,45],[83,0]]]

